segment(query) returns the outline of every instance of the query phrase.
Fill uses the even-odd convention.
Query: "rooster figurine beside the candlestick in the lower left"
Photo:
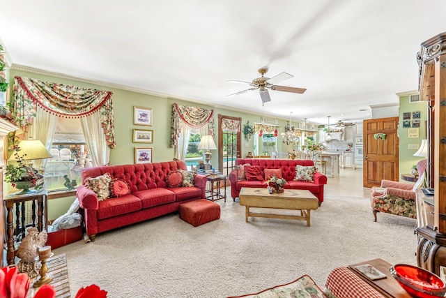
[[[17,269],[20,273],[26,273],[30,279],[33,279],[39,275],[40,264],[36,260],[39,255],[38,250],[45,246],[48,234],[45,230],[38,232],[37,228],[34,227],[28,228],[26,231],[28,234],[26,234],[17,250],[17,258],[21,259],[17,264]]]

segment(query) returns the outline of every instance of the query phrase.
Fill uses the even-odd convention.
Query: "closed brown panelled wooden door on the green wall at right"
[[[383,179],[399,181],[398,120],[364,120],[364,187],[380,186]]]

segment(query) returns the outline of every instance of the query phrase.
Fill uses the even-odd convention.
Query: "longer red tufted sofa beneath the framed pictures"
[[[82,185],[77,188],[80,207],[84,209],[86,233],[91,241],[100,232],[130,225],[149,218],[178,211],[183,202],[204,199],[206,177],[194,178],[195,186],[167,188],[165,179],[170,172],[187,170],[184,161],[138,163],[86,167],[82,169]],[[130,194],[98,201],[98,196],[84,186],[87,177],[109,173],[113,179],[123,179],[130,186]]]

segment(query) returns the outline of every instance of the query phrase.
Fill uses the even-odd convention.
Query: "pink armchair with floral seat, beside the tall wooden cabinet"
[[[426,159],[417,163],[417,170],[420,173],[420,177],[415,185],[382,180],[380,187],[374,186],[371,188],[371,209],[374,212],[375,221],[378,212],[417,218],[415,190],[418,187],[426,186],[426,166]]]

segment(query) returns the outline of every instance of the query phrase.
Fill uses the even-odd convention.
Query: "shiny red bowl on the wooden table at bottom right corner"
[[[390,274],[413,297],[446,297],[446,283],[430,271],[412,265],[397,264]]]

